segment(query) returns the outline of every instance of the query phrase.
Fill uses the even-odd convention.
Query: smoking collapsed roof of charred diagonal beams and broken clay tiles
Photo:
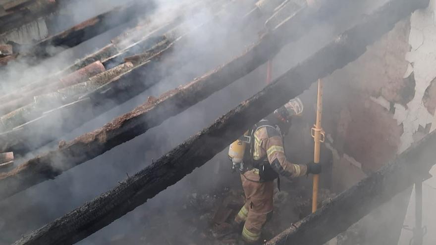
[[[2,3],[4,15],[0,19],[5,23],[1,29],[3,33],[24,24],[17,23],[12,15],[31,11],[32,15],[22,21],[41,18],[52,15],[56,7],[63,3],[54,0],[5,2]],[[13,2],[20,3],[14,5]],[[31,7],[32,4],[37,4],[38,8]],[[210,5],[208,9],[212,14],[201,18],[202,21],[196,22],[193,27],[191,19],[201,15],[201,11],[204,11],[202,6],[206,4]],[[367,46],[379,40],[398,21],[428,4],[429,0],[387,0],[371,14],[355,22],[350,20],[345,31],[335,33],[335,38],[321,49],[253,97],[242,101],[210,127],[193,135],[108,192],[14,244],[74,244],[109,225],[205,164],[242,135],[246,128],[290,98],[302,94],[312,83],[359,58]],[[28,159],[23,157],[25,160],[22,164],[0,173],[0,197],[8,198],[53,179],[144,134],[253,72],[284,46],[299,40],[307,30],[316,28],[320,22],[333,24],[337,21],[333,16],[338,11],[353,13],[362,5],[364,1],[329,0],[322,1],[314,9],[307,7],[305,0],[192,0],[181,3],[178,11],[167,8],[153,14],[146,11],[138,19],[133,18],[138,15],[138,10],[153,6],[153,2],[132,1],[33,44],[5,44],[7,51],[0,58],[4,60],[0,60],[0,64],[3,64],[2,69],[7,70],[14,62],[37,65],[63,49],[75,47],[113,26],[123,25],[125,30],[101,49],[64,64],[61,69],[45,74],[42,79],[26,82],[24,87],[2,93],[0,151],[12,151],[15,155],[25,156],[61,139],[68,132],[171,76],[186,62],[174,58],[174,49],[184,49],[189,45],[187,40],[211,31],[211,23],[223,20],[231,22],[234,29],[228,31],[227,35],[230,36],[244,28],[260,33],[257,40],[249,43],[242,53],[203,76],[186,81],[186,84],[170,89],[159,97],[149,97],[143,104],[113,118],[99,129],[69,142],[60,141],[56,149]],[[241,9],[243,12],[240,12]],[[165,11],[174,11],[176,14],[150,25],[153,18]],[[57,49],[59,47],[62,49]],[[165,66],[161,65],[163,62]],[[54,121],[56,123],[52,123]],[[416,179],[425,178],[431,167],[428,159],[435,157],[431,149],[435,141],[435,133],[430,134],[416,146],[398,155],[385,168],[336,196],[318,212],[293,224],[267,244],[326,243],[373,208],[411,186]],[[417,158],[418,155],[421,158]],[[413,169],[410,168],[411,161],[415,162]],[[400,185],[395,181],[397,179],[404,181]],[[356,196],[360,197],[359,200],[356,200]],[[350,212],[341,212],[344,209]],[[327,229],[326,224],[332,220],[340,220],[340,225]],[[320,236],[313,238],[314,231]]]

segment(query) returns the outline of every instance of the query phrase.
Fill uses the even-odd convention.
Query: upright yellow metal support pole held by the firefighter
[[[323,128],[321,127],[321,119],[323,116],[323,82],[318,80],[318,102],[317,102],[317,122],[312,128],[312,137],[315,140],[314,149],[314,162],[320,163],[320,148],[321,143],[324,142],[325,134]],[[319,187],[320,176],[318,174],[314,175],[313,180],[313,191],[312,191],[312,212],[317,211],[318,204],[318,187]]]

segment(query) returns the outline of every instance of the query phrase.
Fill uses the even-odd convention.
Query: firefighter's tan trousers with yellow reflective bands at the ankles
[[[252,169],[241,174],[246,202],[236,215],[235,222],[245,221],[242,239],[247,243],[257,243],[261,238],[262,227],[272,215],[274,182],[259,182],[259,171]]]

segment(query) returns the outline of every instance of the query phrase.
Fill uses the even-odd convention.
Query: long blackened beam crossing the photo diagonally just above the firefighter
[[[73,244],[109,225],[205,164],[242,135],[246,128],[289,98],[303,93],[318,78],[325,77],[357,59],[366,51],[367,45],[380,39],[397,21],[413,10],[424,7],[425,3],[428,0],[390,0],[376,13],[366,16],[364,21],[274,80],[257,95],[221,116],[209,128],[162,156],[157,162],[101,196],[23,237],[14,245]],[[110,135],[105,137],[110,140]],[[429,151],[433,149],[430,148]]]

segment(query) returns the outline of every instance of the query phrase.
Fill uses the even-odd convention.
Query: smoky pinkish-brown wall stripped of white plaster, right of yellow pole
[[[336,192],[377,171],[402,146],[404,128],[395,118],[395,105],[413,101],[418,85],[414,77],[403,76],[410,30],[409,19],[398,22],[359,59],[325,78],[323,124],[330,134]],[[363,244],[396,244],[409,198],[410,190],[359,221]]]

